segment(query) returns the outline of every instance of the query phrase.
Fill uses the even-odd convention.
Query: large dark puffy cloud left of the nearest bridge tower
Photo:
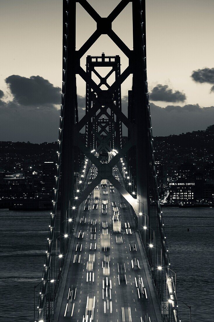
[[[11,75],[5,79],[14,100],[22,105],[60,104],[61,93],[59,87],[54,87],[41,76],[30,78]]]

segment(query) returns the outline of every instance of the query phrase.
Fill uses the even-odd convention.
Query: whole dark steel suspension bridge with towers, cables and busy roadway
[[[76,3],[96,23],[79,50]],[[112,30],[129,3],[132,49]],[[86,67],[81,67],[81,59],[103,34],[127,57],[122,72],[120,56],[107,56],[102,48],[97,56],[87,55]],[[86,0],[63,0],[62,50],[55,186],[34,321],[181,321],[158,196],[145,0],[122,0],[104,18]],[[81,119],[77,75],[86,89]],[[127,117],[121,85],[129,75]]]

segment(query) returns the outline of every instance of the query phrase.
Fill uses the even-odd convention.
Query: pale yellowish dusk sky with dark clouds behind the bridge
[[[119,1],[91,0],[102,16]],[[147,76],[153,135],[214,124],[214,1],[147,0]],[[0,0],[0,140],[55,141],[62,74],[62,0]],[[112,25],[132,48],[131,4]],[[77,4],[76,48],[95,30]],[[125,23],[124,23],[125,22]],[[86,53],[121,56],[107,36]],[[81,61],[85,68],[85,56]],[[122,86],[123,110],[131,78]],[[77,77],[80,115],[85,84]]]

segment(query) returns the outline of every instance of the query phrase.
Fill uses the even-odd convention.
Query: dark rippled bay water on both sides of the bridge
[[[214,208],[163,208],[163,214],[177,297],[191,306],[192,321],[212,322]],[[1,322],[33,320],[48,228],[48,212],[0,209]],[[38,293],[39,287],[36,300]],[[179,302],[179,310],[181,320],[189,321],[189,308]]]

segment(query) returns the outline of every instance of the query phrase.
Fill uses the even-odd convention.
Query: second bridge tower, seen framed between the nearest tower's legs
[[[96,67],[108,67],[111,68],[106,76],[102,77],[96,70]],[[110,88],[108,84],[108,78],[114,74],[115,79],[120,76],[120,57],[117,56],[87,56],[86,58],[86,73],[92,79],[92,73],[94,73],[99,79],[99,87],[103,85],[106,88]],[[91,88],[91,83],[86,83],[86,95],[85,95],[85,112],[86,115],[94,104],[96,104],[96,93]],[[114,93],[114,100],[116,108],[121,112],[121,88]],[[102,119],[100,117],[103,116]],[[118,117],[114,119],[114,112],[111,110],[111,115],[107,112],[107,106],[105,110],[101,110],[97,115],[93,115],[93,120],[88,118],[88,122],[85,126],[86,133],[86,146],[89,149],[96,149],[99,153],[103,149],[108,153],[112,149],[120,149],[122,147],[122,126]],[[103,139],[101,134],[104,133],[106,137]],[[117,134],[115,136],[115,134]]]

